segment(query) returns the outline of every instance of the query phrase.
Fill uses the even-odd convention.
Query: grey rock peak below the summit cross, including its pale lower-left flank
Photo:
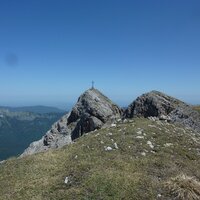
[[[39,141],[33,142],[21,156],[59,148],[74,139],[121,117],[121,109],[96,89],[82,94],[70,113],[63,116]]]

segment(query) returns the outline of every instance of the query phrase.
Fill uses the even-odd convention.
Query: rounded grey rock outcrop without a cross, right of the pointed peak
[[[200,114],[197,111],[186,103],[157,91],[138,97],[125,110],[124,117],[158,117],[200,131]]]

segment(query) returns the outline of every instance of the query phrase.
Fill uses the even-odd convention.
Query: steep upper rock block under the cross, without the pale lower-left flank
[[[72,139],[101,128],[121,117],[121,109],[96,89],[87,90],[78,99],[68,118],[68,125],[76,123]]]

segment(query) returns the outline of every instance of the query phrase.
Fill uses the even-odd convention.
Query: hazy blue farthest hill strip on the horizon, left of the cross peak
[[[9,107],[9,106],[0,106],[1,109],[7,109],[11,112],[33,112],[33,113],[63,113],[64,110],[59,108],[50,107],[50,106],[23,106],[23,107]]]

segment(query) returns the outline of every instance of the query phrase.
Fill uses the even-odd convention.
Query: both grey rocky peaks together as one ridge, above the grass
[[[60,148],[83,134],[109,126],[117,120],[133,117],[157,117],[200,130],[200,114],[188,104],[159,91],[142,94],[123,110],[99,90],[86,90],[69,114],[53,124],[52,128],[35,141],[21,155]]]

